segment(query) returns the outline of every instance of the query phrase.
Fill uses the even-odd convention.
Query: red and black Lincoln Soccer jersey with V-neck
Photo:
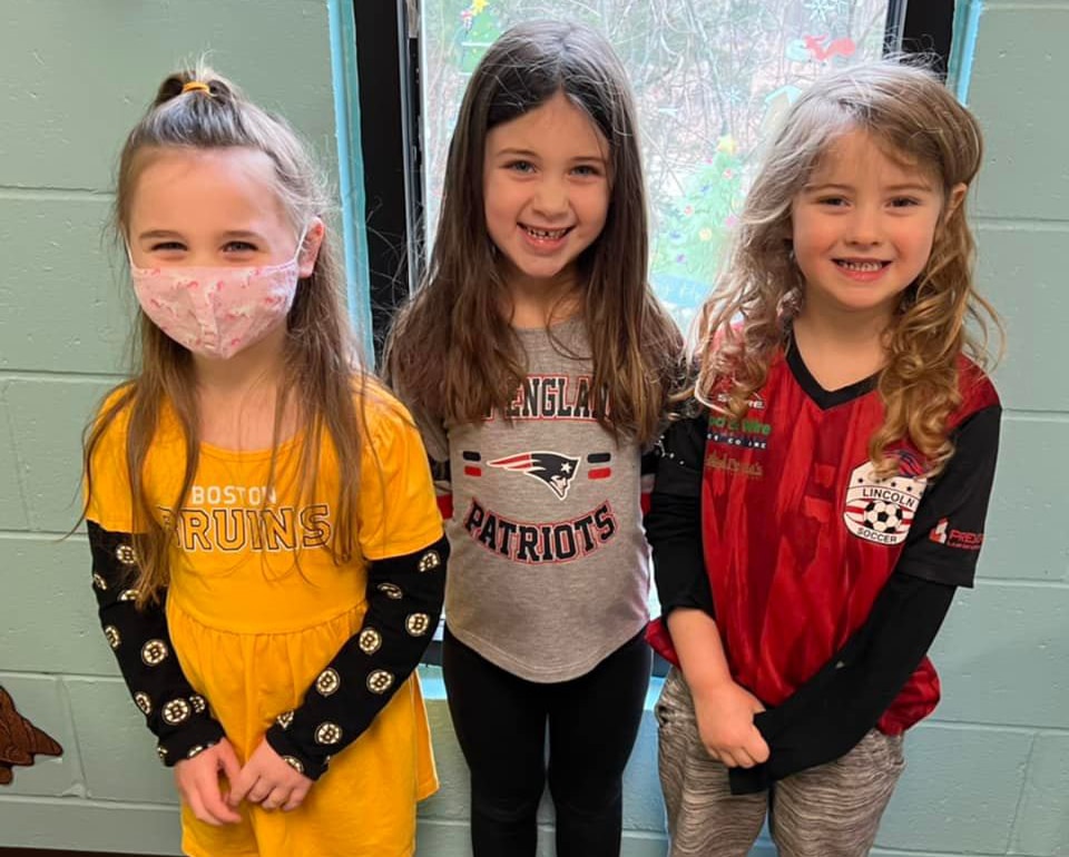
[[[899,460],[898,473],[876,479],[867,451],[884,418],[875,380],[825,391],[793,347],[773,362],[742,421],[698,417],[706,430],[699,506],[704,550],[699,559],[680,536],[678,522],[686,513],[661,514],[648,528],[661,604],[666,614],[675,607],[714,612],[733,677],[769,708],[790,710],[785,703],[800,689],[815,678],[825,682],[825,668],[833,676],[843,666],[836,663],[842,653],[861,648],[881,594],[883,610],[876,612],[886,620],[909,615],[903,605],[921,591],[911,589],[910,580],[942,584],[932,591],[972,585],[1001,407],[973,363],[962,358],[959,376],[963,401],[950,421],[957,452],[932,480],[924,477],[926,462],[909,443],[890,451]],[[685,479],[674,475],[676,469],[688,470],[679,460],[686,447],[679,439],[693,439],[696,424],[674,427],[676,445],[668,443],[673,449],[658,470],[659,486],[663,472],[667,477],[660,498],[669,509],[687,502],[698,508],[686,498],[698,490],[696,480],[687,489]],[[892,573],[906,575],[901,585],[889,587]],[[940,599],[945,612],[949,597]],[[939,608],[932,613],[934,636],[942,614]],[[649,638],[677,662],[663,620]],[[869,649],[880,648],[870,643]],[[938,678],[926,658],[905,676],[890,706],[880,709],[879,728],[889,733],[909,728],[939,701]]]

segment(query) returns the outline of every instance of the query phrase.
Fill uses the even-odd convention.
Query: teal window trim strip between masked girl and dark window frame
[[[337,138],[337,178],[341,200],[345,298],[365,365],[373,358],[371,283],[367,276],[367,233],[364,167],[360,146],[360,81],[356,73],[356,23],[352,0],[327,0],[331,75],[334,82],[334,125]]]

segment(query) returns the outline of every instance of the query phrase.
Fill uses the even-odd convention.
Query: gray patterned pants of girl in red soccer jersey
[[[905,767],[902,737],[869,732],[849,753],[772,791],[732,795],[698,737],[690,690],[673,669],[654,709],[670,857],[746,857],[768,815],[782,857],[864,857]]]

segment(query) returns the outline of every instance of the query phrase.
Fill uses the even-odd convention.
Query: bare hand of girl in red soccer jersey
[[[734,681],[698,691],[692,688],[698,735],[709,756],[728,768],[753,768],[768,760],[768,745],[754,726],[761,700]]]

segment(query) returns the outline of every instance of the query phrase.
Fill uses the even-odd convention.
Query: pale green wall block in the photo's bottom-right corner
[[[1069,857],[1069,735],[1036,736],[1013,828],[1013,854]]]

